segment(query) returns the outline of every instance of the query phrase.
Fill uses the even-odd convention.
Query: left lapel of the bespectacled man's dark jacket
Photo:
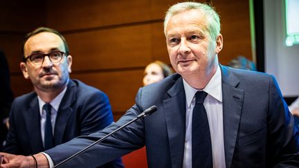
[[[28,133],[28,138],[30,141],[31,149],[33,153],[44,150],[44,145],[42,143],[42,133],[40,129],[40,114],[39,114],[39,104],[37,96],[29,104],[29,109],[24,114],[24,120],[26,123],[26,129]],[[33,131],[36,130],[36,131]]]

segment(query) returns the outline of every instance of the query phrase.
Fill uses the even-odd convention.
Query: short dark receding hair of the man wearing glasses
[[[30,37],[33,37],[34,35],[37,35],[39,34],[40,32],[53,32],[54,34],[58,35],[63,43],[64,43],[64,48],[65,48],[65,53],[66,55],[69,55],[69,46],[68,44],[66,43],[66,39],[64,39],[63,35],[60,34],[60,32],[58,32],[57,30],[54,30],[53,28],[45,28],[45,27],[39,27],[39,28],[36,28],[35,30],[33,30],[32,32],[29,32],[25,37],[24,37],[24,40],[23,40],[23,44],[21,46],[21,53],[22,53],[22,59],[24,60],[25,59],[25,55],[24,55],[24,46],[25,46],[25,43],[26,41],[30,38]]]

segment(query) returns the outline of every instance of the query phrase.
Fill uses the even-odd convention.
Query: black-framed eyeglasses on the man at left
[[[53,50],[48,54],[34,53],[33,55],[29,55],[28,57],[24,58],[23,61],[26,62],[27,59],[30,59],[30,62],[33,64],[42,65],[44,62],[44,57],[48,56],[51,62],[58,63],[62,60],[63,55],[65,55],[64,52],[60,50]]]

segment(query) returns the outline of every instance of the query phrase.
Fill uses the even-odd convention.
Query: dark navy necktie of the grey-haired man
[[[208,93],[197,91],[192,114],[192,167],[212,168],[212,144],[203,102]]]

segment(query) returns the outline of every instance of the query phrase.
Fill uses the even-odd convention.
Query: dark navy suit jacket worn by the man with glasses
[[[55,146],[100,131],[111,122],[113,116],[107,95],[79,80],[70,80],[57,111]],[[10,130],[3,151],[25,156],[44,151],[40,128],[37,94],[17,97],[12,103]],[[112,164],[106,166],[112,167]],[[119,164],[120,160],[116,162]]]

